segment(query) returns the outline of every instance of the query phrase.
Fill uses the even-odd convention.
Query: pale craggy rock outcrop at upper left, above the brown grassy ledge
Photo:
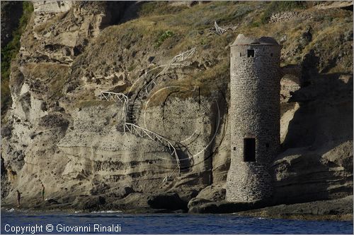
[[[34,1],[31,30],[22,37],[21,61],[72,64],[91,38],[122,18],[127,5],[116,1]]]

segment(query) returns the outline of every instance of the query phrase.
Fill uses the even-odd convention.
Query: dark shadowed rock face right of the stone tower
[[[295,107],[282,116],[284,152],[272,167],[280,203],[353,193],[353,76],[319,76],[293,93]]]

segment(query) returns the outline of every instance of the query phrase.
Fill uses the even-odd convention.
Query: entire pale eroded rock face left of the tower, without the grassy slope
[[[18,188],[24,193],[24,205],[38,207],[42,204],[36,198],[40,183],[44,183],[46,198],[56,202],[50,204],[53,207],[59,203],[90,210],[95,203],[104,205],[100,196],[113,202],[135,192],[164,191],[177,192],[186,207],[188,200],[213,180],[212,174],[220,174],[215,182],[224,181],[225,104],[218,111],[215,99],[199,97],[200,104],[194,98],[172,96],[163,106],[147,109],[148,128],[178,142],[185,140],[183,145],[192,151],[190,163],[198,162],[193,167],[187,164],[180,173],[166,146],[118,128],[123,121],[121,103],[92,97],[86,102],[91,92],[124,91],[132,79],[126,70],[101,77],[86,71],[83,78],[69,80],[72,61],[105,26],[118,22],[119,14],[112,12],[122,12],[124,4],[38,1],[34,5],[21,39],[21,54],[11,68],[11,121],[2,130],[1,156],[8,182],[4,187],[8,190],[2,194],[4,203],[15,203]],[[215,97],[220,99],[220,95]],[[197,109],[200,113],[195,113]],[[219,116],[217,123],[215,116]],[[144,127],[143,113],[139,124]],[[68,192],[74,193],[68,196]],[[86,198],[85,203],[77,203],[79,196]]]

